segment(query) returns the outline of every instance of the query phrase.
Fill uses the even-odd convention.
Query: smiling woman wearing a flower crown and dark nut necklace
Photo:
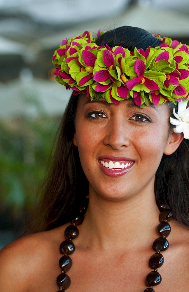
[[[160,47],[164,41],[169,46]],[[60,251],[67,255],[60,261],[59,291],[188,290],[189,137],[180,118],[185,108],[178,111],[176,101],[183,107],[188,99],[189,73],[188,53],[177,46],[143,29],[120,27],[97,39],[85,32],[55,52],[56,79],[73,95],[33,234],[1,251],[1,292],[57,291],[62,241]],[[154,244],[157,237],[166,251]]]

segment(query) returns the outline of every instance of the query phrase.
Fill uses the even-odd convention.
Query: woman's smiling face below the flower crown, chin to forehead
[[[153,192],[163,153],[175,150],[169,116],[166,104],[141,109],[128,100],[115,105],[81,95],[73,142],[90,190],[111,200]]]

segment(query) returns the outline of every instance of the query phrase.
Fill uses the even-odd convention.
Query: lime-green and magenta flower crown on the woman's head
[[[62,41],[53,55],[55,79],[71,88],[73,94],[118,104],[133,100],[144,107],[171,101],[189,100],[189,46],[169,38],[161,38],[161,46],[144,51],[115,46],[97,46],[85,31],[80,36]]]

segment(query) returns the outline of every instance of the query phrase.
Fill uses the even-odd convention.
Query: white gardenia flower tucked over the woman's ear
[[[173,129],[175,133],[184,134],[185,139],[189,139],[189,107],[187,107],[187,100],[182,100],[178,102],[178,113],[176,114],[175,109],[173,109],[173,114],[177,119],[170,117],[170,123],[176,127]]]

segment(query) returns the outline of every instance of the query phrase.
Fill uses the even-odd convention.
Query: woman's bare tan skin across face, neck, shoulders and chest
[[[141,109],[128,101],[119,105],[104,101],[89,102],[81,95],[77,106],[73,143],[90,191],[88,210],[74,239],[73,266],[67,272],[71,286],[66,292],[142,292],[146,288],[160,213],[154,196],[155,172],[163,153],[172,154],[183,139],[182,133],[169,131],[166,104]],[[99,168],[102,155],[129,157],[135,163],[124,175],[110,178]],[[56,292],[59,245],[67,225],[4,248],[0,291]],[[156,292],[189,289],[189,231],[175,220],[170,225],[170,247],[163,252],[162,283]]]

